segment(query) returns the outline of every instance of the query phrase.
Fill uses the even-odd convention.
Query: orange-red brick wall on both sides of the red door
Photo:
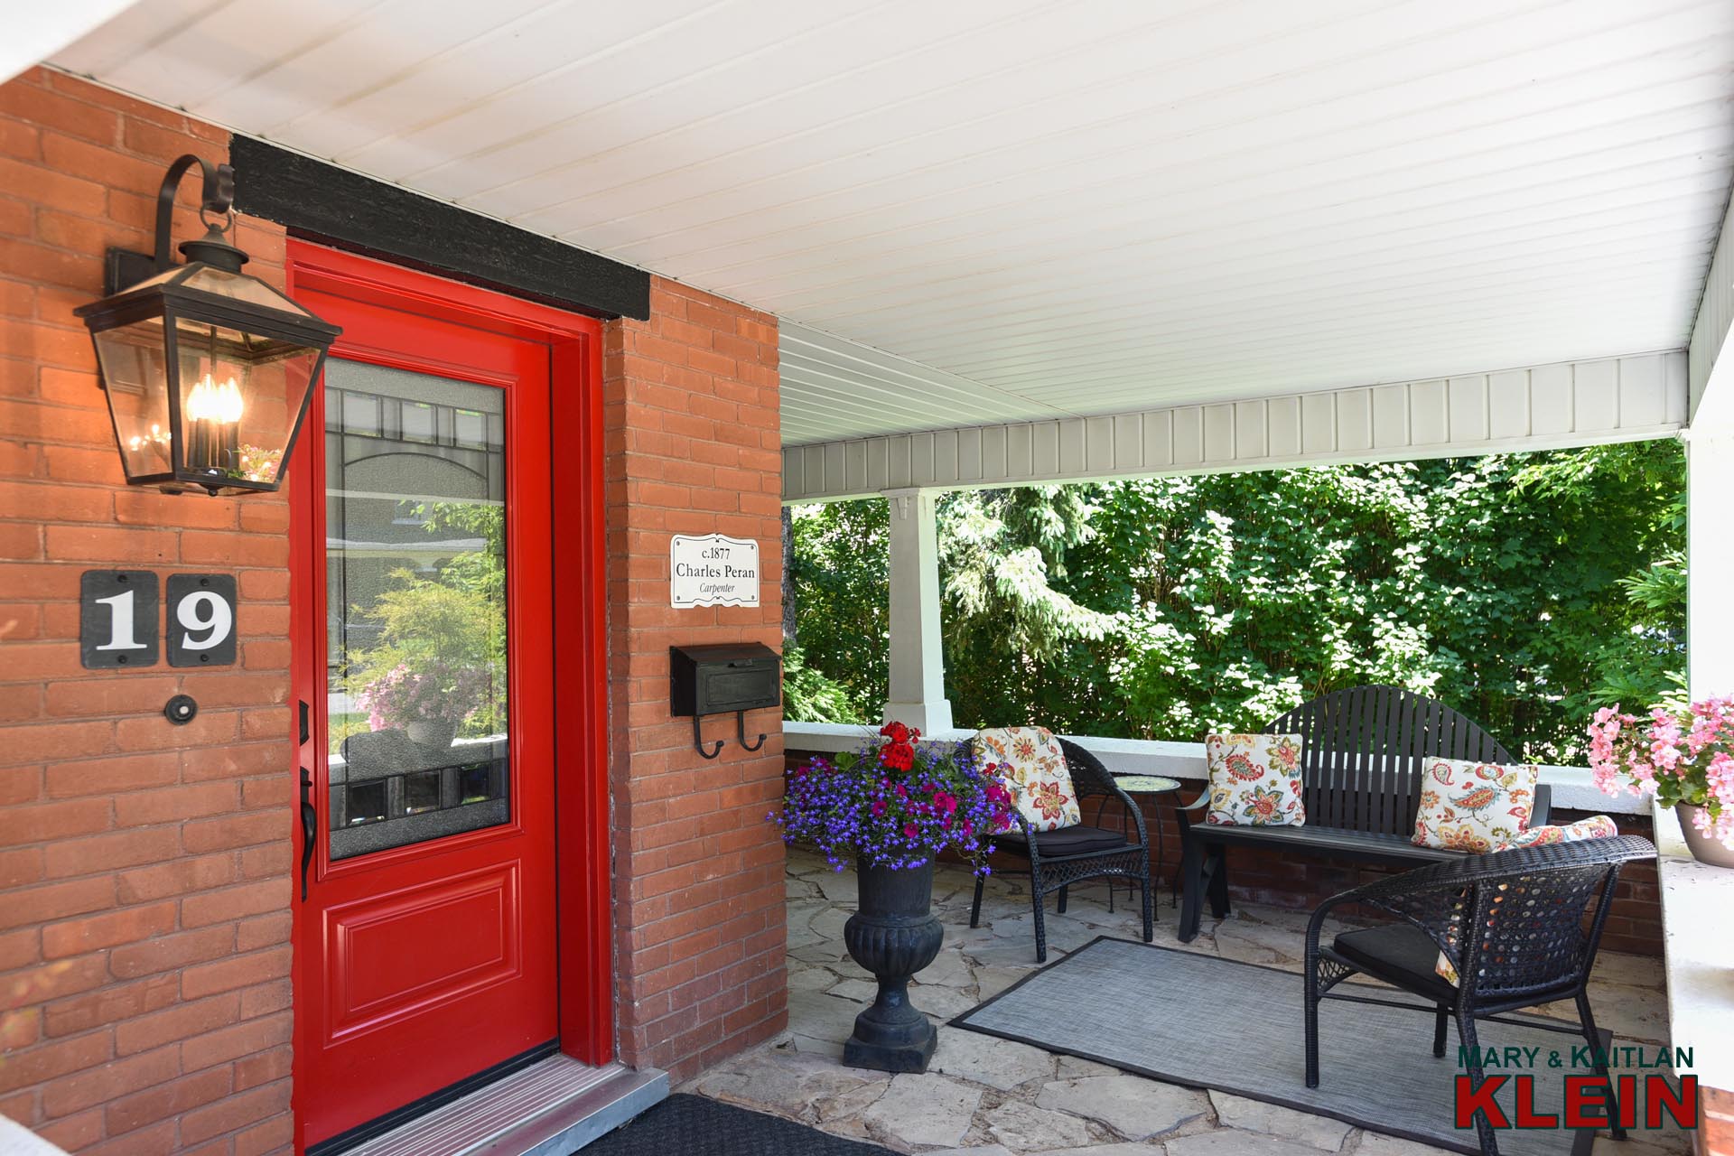
[[[288,504],[127,487],[71,315],[106,246],[151,248],[186,151],[227,135],[42,69],[0,85],[0,1113],[90,1153],[291,1137]],[[281,283],[279,227],[239,243]],[[605,378],[619,1052],[685,1076],[784,1017],[777,712],[714,763],[668,714],[669,643],[780,640],[775,319],[659,281]],[[761,608],[669,608],[668,536],[711,530],[761,542]],[[238,666],[81,669],[80,574],[123,567],[236,574]]]

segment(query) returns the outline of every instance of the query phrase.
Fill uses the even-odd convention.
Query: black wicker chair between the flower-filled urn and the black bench
[[[1061,827],[1059,830],[1032,832],[1028,820],[1013,811],[1018,828],[994,839],[999,851],[1007,851],[1030,861],[1030,905],[1035,908],[1035,962],[1047,962],[1047,927],[1042,922],[1042,898],[1058,891],[1059,913],[1066,910],[1066,889],[1085,879],[1108,879],[1110,889],[1115,879],[1136,880],[1144,901],[1144,943],[1155,938],[1155,925],[1150,908],[1150,835],[1144,832],[1144,816],[1132,802],[1131,796],[1120,790],[1113,775],[1084,747],[1065,738],[1059,749],[1066,756],[1066,770],[1072,775],[1072,790],[1079,801],[1079,811],[1091,796],[1118,799],[1138,825],[1138,842],[1129,842],[1124,830],[1106,827]],[[1098,808],[1098,818],[1101,809]],[[975,903],[969,906],[969,925],[981,924],[981,886],[976,877]]]

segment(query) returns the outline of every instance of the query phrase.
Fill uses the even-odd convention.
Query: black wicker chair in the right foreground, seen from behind
[[[1476,1055],[1477,1019],[1500,1021],[1521,1007],[1574,1000],[1576,1026],[1538,1026],[1581,1035],[1592,1054],[1600,1055],[1602,1040],[1587,993],[1590,967],[1620,867],[1654,854],[1656,848],[1635,835],[1555,842],[1434,863],[1325,899],[1306,931],[1307,1087],[1318,1087],[1318,1005],[1323,1000],[1431,1010],[1434,1055],[1444,1055],[1446,1023],[1453,1017],[1462,1045]],[[1325,915],[1344,903],[1373,906],[1401,922],[1346,931],[1321,946]],[[1592,905],[1594,915],[1585,924]],[[1457,967],[1457,984],[1434,972],[1441,951]],[[1332,991],[1358,972],[1418,995],[1431,1007]],[[1625,1139],[1607,1066],[1597,1061],[1595,1075],[1609,1080],[1609,1132]],[[1469,1076],[1481,1085],[1479,1062],[1469,1064]],[[1481,1151],[1496,1156],[1493,1125],[1481,1111],[1476,1113],[1476,1133]]]

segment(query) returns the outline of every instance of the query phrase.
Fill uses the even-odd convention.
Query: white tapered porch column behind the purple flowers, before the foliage
[[[886,490],[891,501],[891,700],[884,721],[950,730],[940,646],[938,490]]]

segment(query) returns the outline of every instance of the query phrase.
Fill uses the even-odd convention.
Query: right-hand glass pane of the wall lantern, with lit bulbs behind
[[[319,350],[177,317],[175,352],[186,470],[218,485],[276,482]]]

